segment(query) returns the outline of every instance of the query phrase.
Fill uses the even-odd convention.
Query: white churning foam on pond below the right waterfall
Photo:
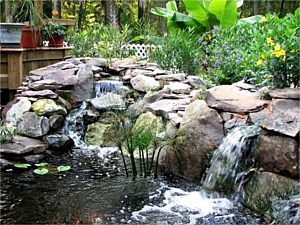
[[[162,203],[145,205],[141,210],[132,213],[132,219],[146,223],[150,214],[165,215],[168,218],[186,218],[189,224],[196,224],[197,219],[223,209],[231,209],[233,204],[226,198],[212,198],[203,191],[186,192],[179,188],[165,186],[158,190],[163,192]],[[157,197],[157,194],[154,194]],[[153,199],[153,196],[150,196]],[[157,205],[158,204],[158,205]]]

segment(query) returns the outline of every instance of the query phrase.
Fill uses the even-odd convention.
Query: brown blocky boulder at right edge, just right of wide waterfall
[[[256,161],[267,171],[296,178],[299,176],[299,153],[299,142],[296,139],[262,134]]]

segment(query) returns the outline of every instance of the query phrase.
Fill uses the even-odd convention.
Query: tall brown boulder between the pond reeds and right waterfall
[[[178,134],[178,144],[163,149],[160,164],[176,175],[200,180],[224,138],[222,118],[205,101],[196,100],[186,108]]]

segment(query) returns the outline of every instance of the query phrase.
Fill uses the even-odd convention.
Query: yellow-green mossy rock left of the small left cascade
[[[31,106],[32,110],[39,116],[66,115],[67,110],[57,105],[52,99],[39,99]]]

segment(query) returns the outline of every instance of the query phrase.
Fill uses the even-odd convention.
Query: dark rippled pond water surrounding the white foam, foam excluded
[[[63,173],[50,170],[46,175],[34,174],[33,170],[3,172],[1,224],[141,224],[141,221],[132,219],[132,213],[145,205],[164,204],[163,198],[149,198],[161,192],[162,180],[138,178],[132,181],[117,166],[120,165],[119,159],[114,160],[107,163],[93,157],[87,160],[84,157],[52,155],[45,160],[49,167],[70,165],[72,169]],[[185,191],[199,189],[194,184],[168,184],[171,185]],[[162,194],[160,196],[163,197]],[[230,224],[262,224],[259,217],[246,212],[242,206],[231,210],[239,218],[232,219]],[[178,222],[177,218],[159,214],[161,212],[155,215],[149,213],[149,220],[143,223],[190,224],[186,219]],[[226,211],[225,214],[232,212]],[[218,218],[221,218],[219,222]],[[223,215],[213,215],[207,220],[224,224],[224,218]],[[200,219],[197,224],[208,224],[207,220]]]

